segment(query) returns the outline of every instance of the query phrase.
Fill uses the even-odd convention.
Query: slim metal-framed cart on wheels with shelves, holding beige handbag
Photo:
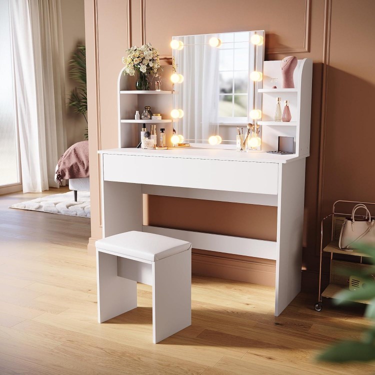
[[[314,304],[314,309],[316,311],[321,311],[323,307],[323,301],[322,297],[326,298],[334,298],[334,295],[339,292],[342,289],[347,289],[348,283],[347,283],[347,277],[346,275],[342,275],[340,272],[336,272],[338,268],[346,265],[350,266],[352,268],[359,268],[359,267],[366,267],[367,264],[362,263],[362,258],[368,256],[367,254],[361,253],[359,250],[353,250],[353,251],[345,251],[341,250],[338,247],[338,239],[340,234],[340,229],[343,223],[343,220],[345,217],[350,217],[350,213],[343,213],[338,212],[336,210],[336,205],[339,203],[347,203],[347,204],[357,204],[362,203],[365,205],[371,205],[375,206],[375,203],[370,202],[357,202],[353,200],[336,200],[333,203],[332,207],[332,213],[330,213],[328,216],[325,216],[321,220],[321,226],[320,226],[320,262],[319,262],[319,290],[318,290],[318,301]],[[355,217],[357,218],[364,218],[364,215],[356,214]],[[372,216],[371,216],[372,217]],[[325,223],[325,220],[331,218],[332,222],[332,229],[331,229],[331,238],[330,242],[323,247],[323,224]],[[321,291],[321,260],[323,252],[330,253],[330,263],[329,263],[329,284],[328,286]],[[335,254],[345,255],[348,257],[355,257],[354,259],[359,259],[357,262],[348,262],[344,260],[336,260],[334,258]],[[352,260],[353,258],[351,258]],[[370,303],[369,301],[365,300],[356,300],[356,302],[360,303]]]

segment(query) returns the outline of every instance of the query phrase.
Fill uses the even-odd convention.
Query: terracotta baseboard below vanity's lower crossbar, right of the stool
[[[269,259],[193,249],[191,271],[199,275],[274,286],[276,264]]]

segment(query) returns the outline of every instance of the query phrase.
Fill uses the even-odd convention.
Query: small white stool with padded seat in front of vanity
[[[191,324],[191,243],[130,231],[96,245],[97,320],[137,306],[136,282],[152,285],[152,341]]]

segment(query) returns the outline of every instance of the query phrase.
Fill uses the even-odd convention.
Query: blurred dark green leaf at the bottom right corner
[[[360,341],[341,341],[318,355],[327,362],[369,361],[375,359],[375,346]]]

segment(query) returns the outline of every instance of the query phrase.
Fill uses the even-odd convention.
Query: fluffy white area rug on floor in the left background
[[[15,203],[10,208],[28,209],[58,213],[60,215],[90,217],[90,192],[78,191],[78,201],[74,201],[73,191],[45,195],[41,198]]]

